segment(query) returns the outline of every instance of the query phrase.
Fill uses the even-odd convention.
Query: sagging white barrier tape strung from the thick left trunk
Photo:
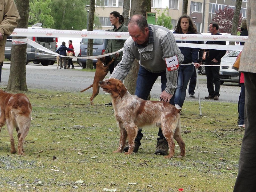
[[[33,47],[35,47],[36,49],[39,49],[41,51],[44,51],[44,52],[47,52],[47,53],[51,53],[51,54],[45,54],[45,53],[35,53],[35,52],[28,52],[28,53],[35,53],[35,54],[42,54],[42,55],[55,55],[55,56],[60,56],[60,57],[68,57],[68,58],[79,58],[79,59],[99,59],[99,58],[102,58],[102,57],[105,57],[105,56],[108,56],[108,55],[113,55],[113,54],[116,54],[118,52],[121,52],[124,50],[124,48],[116,51],[116,52],[113,52],[113,53],[108,53],[108,54],[104,54],[104,55],[97,55],[97,56],[88,56],[88,57],[74,57],[74,56],[65,56],[65,55],[60,55],[56,52],[53,52],[47,48],[45,48],[44,46],[36,43],[35,41],[32,41],[28,38],[26,39],[12,39],[12,44],[29,44]],[[6,50],[10,50],[10,49],[6,49]]]

